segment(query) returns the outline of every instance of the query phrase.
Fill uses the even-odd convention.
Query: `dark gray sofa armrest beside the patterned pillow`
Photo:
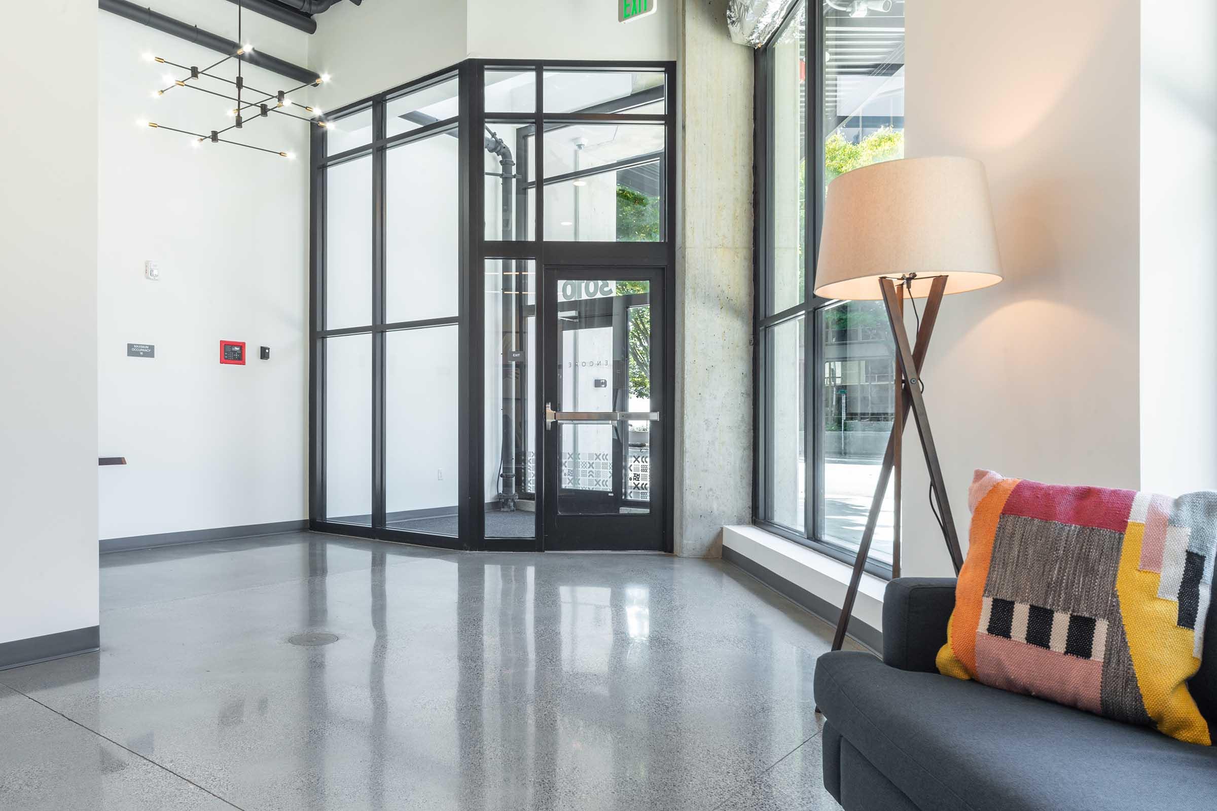
[[[955,608],[954,578],[897,578],[884,592],[884,664],[937,672],[933,659],[947,642]]]

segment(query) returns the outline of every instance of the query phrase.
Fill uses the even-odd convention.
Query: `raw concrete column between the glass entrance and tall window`
[[[752,517],[752,51],[727,0],[685,0],[677,233],[675,552]]]

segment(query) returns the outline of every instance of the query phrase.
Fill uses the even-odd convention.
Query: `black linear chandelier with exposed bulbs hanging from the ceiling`
[[[176,88],[185,88],[186,90],[195,90],[197,92],[206,92],[212,96],[219,96],[220,98],[226,98],[229,101],[236,102],[234,107],[230,107],[228,109],[229,118],[234,119],[232,123],[229,124],[228,126],[224,126],[223,129],[211,130],[211,133],[192,133],[190,130],[178,129],[174,126],[168,126],[166,124],[158,124],[157,122],[148,122],[142,119],[136,122],[136,124],[139,126],[148,126],[157,130],[168,130],[170,133],[181,133],[183,135],[190,135],[195,139],[191,142],[191,146],[195,147],[206,142],[231,143],[234,146],[243,146],[247,150],[258,150],[259,152],[269,152],[270,154],[277,154],[282,158],[293,159],[296,156],[292,152],[269,150],[267,147],[254,146],[252,143],[242,143],[241,141],[232,141],[230,139],[220,136],[231,130],[243,130],[247,124],[259,118],[269,118],[271,113],[276,116],[287,116],[290,118],[296,118],[307,124],[315,124],[316,126],[321,128],[330,126],[330,123],[324,118],[321,118],[320,107],[309,107],[307,105],[299,105],[287,97],[298,90],[303,90],[304,88],[316,88],[325,84],[326,81],[330,80],[330,75],[327,73],[323,73],[313,81],[305,81],[304,84],[297,85],[291,90],[275,90],[274,92],[268,90],[258,90],[257,88],[253,88],[249,84],[247,84],[241,72],[241,64],[243,62],[241,57],[243,57],[246,53],[252,52],[253,45],[251,45],[249,43],[245,43],[245,36],[242,35],[241,30],[241,11],[242,11],[242,2],[239,1],[236,7],[237,41],[243,44],[240,45],[234,53],[229,53],[219,62],[213,62],[212,64],[208,64],[206,68],[200,68],[198,66],[187,67],[185,64],[178,64],[176,62],[170,62],[167,58],[153,56],[152,53],[144,55],[144,60],[146,62],[155,62],[157,64],[168,64],[169,67],[187,72],[181,78],[174,78],[173,74],[169,73],[164,74],[162,77],[162,80],[164,81],[166,86],[161,88],[159,90],[153,90],[152,91],[153,98],[159,98],[164,94]],[[220,67],[229,60],[236,60],[235,79],[229,79],[226,77],[212,73],[212,71]],[[201,86],[203,79],[212,79],[214,81],[228,84],[229,88],[225,88],[228,92],[219,92],[218,90],[209,90],[207,88]],[[235,90],[232,90],[232,88],[235,88]],[[231,95],[232,92],[236,92],[236,95],[235,96]],[[292,108],[298,108],[304,113],[308,113],[308,116],[298,116],[293,112],[288,112]]]

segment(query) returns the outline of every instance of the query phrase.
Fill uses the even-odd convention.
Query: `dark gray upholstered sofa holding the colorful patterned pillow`
[[[892,580],[882,661],[817,661],[824,784],[846,811],[1217,809],[1217,747],[938,675],[954,604],[952,579]],[[1217,596],[1189,689],[1217,736]]]

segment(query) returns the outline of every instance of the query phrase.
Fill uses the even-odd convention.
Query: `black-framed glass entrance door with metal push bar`
[[[662,280],[545,275],[545,548],[663,548]]]

